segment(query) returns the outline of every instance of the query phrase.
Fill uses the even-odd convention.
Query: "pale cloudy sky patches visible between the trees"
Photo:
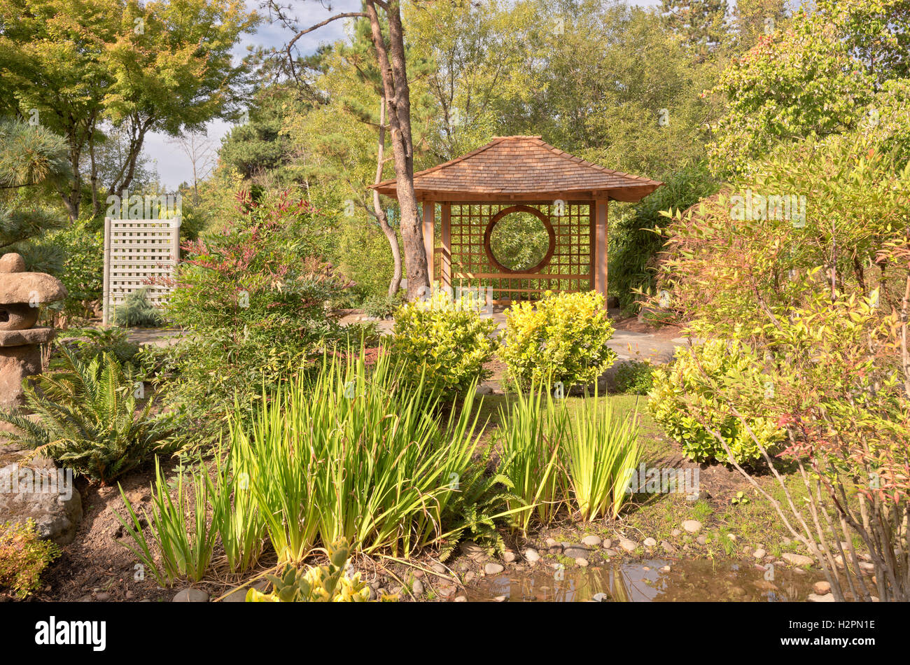
[[[259,0],[245,0],[245,2],[248,9],[257,10],[261,14]],[[638,2],[630,4],[660,5],[660,0],[638,0]],[[295,0],[293,5],[301,27],[318,24],[329,16],[341,12],[360,11],[360,0],[331,0],[330,5],[329,0]],[[326,5],[331,6],[331,9],[328,9]],[[333,21],[309,35],[304,35],[298,42],[300,53],[313,53],[320,44],[331,44],[338,41],[346,35],[345,27],[350,20],[352,19]],[[248,45],[280,48],[287,44],[292,36],[293,34],[289,30],[276,23],[270,23],[266,17],[256,33],[243,36],[240,44],[235,47],[234,53],[236,57],[242,57],[247,53]],[[214,142],[215,146],[220,146],[221,139],[227,134],[230,127],[231,124],[223,120],[215,120],[207,126],[207,137]],[[143,145],[143,153],[153,162],[158,178],[167,190],[176,190],[181,183],[192,181],[192,164],[183,150],[173,143],[170,136],[149,134]]]

